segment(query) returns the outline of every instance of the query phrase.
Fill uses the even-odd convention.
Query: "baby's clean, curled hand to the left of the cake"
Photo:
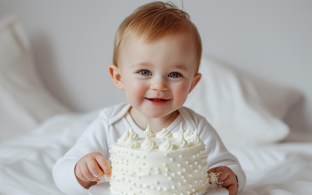
[[[100,182],[104,175],[110,177],[112,169],[107,159],[99,152],[94,152],[82,157],[76,164],[75,175],[84,188],[89,188]]]

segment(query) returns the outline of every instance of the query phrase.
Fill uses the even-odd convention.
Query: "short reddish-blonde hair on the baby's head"
[[[115,37],[113,64],[118,65],[120,49],[130,36],[140,37],[145,43],[151,43],[174,34],[190,38],[194,45],[198,70],[202,45],[196,26],[190,21],[188,13],[171,2],[160,1],[140,6],[121,23]]]

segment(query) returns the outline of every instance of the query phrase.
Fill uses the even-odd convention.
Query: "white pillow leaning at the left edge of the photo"
[[[0,141],[69,112],[44,88],[30,45],[16,17],[0,20]]]

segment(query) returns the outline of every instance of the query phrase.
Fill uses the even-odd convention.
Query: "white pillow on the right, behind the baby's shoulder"
[[[206,117],[227,147],[273,143],[285,138],[282,121],[302,95],[286,86],[255,78],[207,56],[202,78],[184,106]]]

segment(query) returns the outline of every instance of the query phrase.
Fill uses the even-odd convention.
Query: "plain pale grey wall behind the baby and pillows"
[[[146,2],[0,0],[0,17],[20,18],[44,85],[84,112],[125,101],[107,69],[118,26]],[[312,130],[311,0],[183,0],[183,7],[199,29],[204,53],[304,93],[288,118],[293,128]]]

